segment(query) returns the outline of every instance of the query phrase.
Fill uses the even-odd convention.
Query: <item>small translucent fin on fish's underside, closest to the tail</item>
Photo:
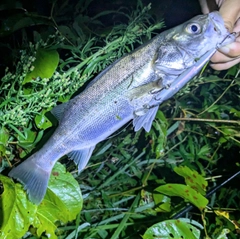
[[[92,156],[94,148],[95,145],[89,148],[75,150],[71,153],[68,153],[68,157],[72,159],[74,163],[78,166],[78,173],[80,173],[86,167],[89,159]]]

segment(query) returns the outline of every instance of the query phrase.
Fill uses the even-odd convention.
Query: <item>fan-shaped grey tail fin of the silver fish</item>
[[[38,205],[46,194],[50,173],[51,171],[44,170],[30,157],[8,175],[20,181],[27,190],[30,201]]]

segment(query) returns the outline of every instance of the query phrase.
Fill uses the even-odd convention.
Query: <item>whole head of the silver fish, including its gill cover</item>
[[[234,39],[225,28],[220,13],[198,15],[166,31],[155,57],[155,72],[165,76],[179,75],[223,41],[227,44]],[[168,84],[173,79],[169,77]]]

